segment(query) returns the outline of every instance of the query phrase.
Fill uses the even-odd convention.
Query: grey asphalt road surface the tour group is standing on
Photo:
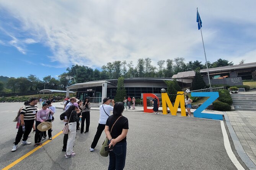
[[[21,146],[11,152],[15,140],[16,122],[12,122],[21,103],[0,103],[0,168],[6,167],[33,150],[33,145]],[[57,110],[53,122],[53,136],[64,127],[59,120],[63,111]],[[125,169],[130,170],[233,170],[223,144],[220,121],[194,119],[170,115],[124,112],[129,119]],[[91,111],[90,131],[77,133],[76,156],[66,159],[62,149],[63,136],[59,135],[11,169],[107,169],[108,157],[99,155],[103,134],[94,152],[89,148],[98,125],[99,112]],[[28,141],[34,141],[34,134]]]

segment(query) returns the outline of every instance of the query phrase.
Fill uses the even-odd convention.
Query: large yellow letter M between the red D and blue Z
[[[170,98],[167,93],[162,93],[162,107],[163,107],[163,114],[167,114],[167,106],[166,103],[171,111],[171,115],[176,115],[178,111],[179,104],[181,104],[181,115],[186,116],[186,109],[185,109],[185,99],[184,99],[184,92],[178,91],[177,96],[174,102],[174,106],[171,104]]]

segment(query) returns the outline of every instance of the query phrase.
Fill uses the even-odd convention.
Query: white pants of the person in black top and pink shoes
[[[68,142],[67,142],[67,155],[71,155],[73,151],[73,145],[75,142],[75,135],[77,130],[77,122],[68,123]]]

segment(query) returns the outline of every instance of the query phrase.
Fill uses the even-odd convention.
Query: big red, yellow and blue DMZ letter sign
[[[170,98],[168,97],[167,93],[161,93],[162,95],[162,107],[163,107],[163,114],[167,114],[167,106],[171,111],[171,115],[177,115],[179,104],[181,106],[181,115],[186,116],[186,108],[185,108],[185,101],[184,101],[184,92],[178,91],[176,100],[174,105],[171,104]],[[202,113],[202,111],[209,106],[212,102],[214,102],[218,98],[218,92],[192,92],[192,97],[210,97],[207,99],[200,107],[198,107],[194,111],[194,117],[199,118],[206,118],[206,119],[215,119],[215,120],[223,120],[221,114],[210,114],[210,113]],[[144,93],[143,94],[143,108],[144,112],[152,113],[154,112],[153,109],[147,108],[147,97],[157,98],[158,97],[152,93]],[[158,99],[159,101],[159,99]],[[159,107],[159,103],[158,103]]]

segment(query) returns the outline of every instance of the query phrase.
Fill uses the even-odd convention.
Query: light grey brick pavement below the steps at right
[[[248,157],[256,164],[256,112],[226,112],[235,133]]]

